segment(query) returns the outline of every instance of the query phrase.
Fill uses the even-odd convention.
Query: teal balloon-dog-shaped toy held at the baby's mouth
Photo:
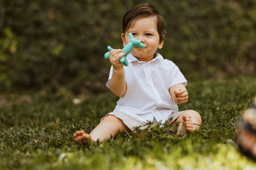
[[[126,55],[122,56],[122,58],[120,58],[120,63],[123,63],[124,66],[128,66],[128,61],[126,56],[132,51],[132,49],[135,47],[138,48],[144,48],[145,45],[139,40],[139,39],[134,39],[134,36],[132,36],[132,33],[129,33],[129,37],[130,37],[130,42],[128,44],[126,44],[126,46],[124,46],[124,48],[122,48],[122,51],[124,53],[126,53]],[[110,58],[110,52],[111,50],[113,50],[113,48],[111,48],[110,46],[108,46],[108,51],[106,52],[104,55],[105,59],[109,59]]]

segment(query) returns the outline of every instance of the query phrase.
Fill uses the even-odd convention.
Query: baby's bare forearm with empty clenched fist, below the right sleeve
[[[188,92],[186,91],[185,85],[179,83],[169,89],[172,100],[177,104],[188,102]]]

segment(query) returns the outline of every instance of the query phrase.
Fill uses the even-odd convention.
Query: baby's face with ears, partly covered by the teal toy
[[[122,42],[125,46],[130,42],[128,33],[132,33],[134,39],[140,39],[145,45],[145,48],[134,47],[132,55],[138,60],[148,62],[154,58],[154,53],[159,48],[162,48],[163,42],[159,42],[159,34],[156,26],[156,17],[141,18],[135,21],[134,25],[131,25],[127,29],[125,34],[122,34]]]

